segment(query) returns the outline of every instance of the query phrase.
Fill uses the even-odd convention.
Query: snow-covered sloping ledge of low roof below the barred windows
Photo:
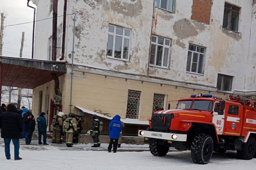
[[[97,116],[101,117],[101,118],[104,118],[104,119],[108,119],[108,120],[111,120],[112,118],[108,117],[108,116],[105,116],[105,115],[102,115],[100,113],[96,113],[96,112],[93,112],[93,111],[90,111],[86,108],[83,108],[83,107],[79,107],[79,106],[75,106],[76,108],[80,109],[81,111],[85,112],[85,113],[88,113],[88,114],[96,114]],[[138,119],[121,119],[121,121],[124,123],[124,124],[133,124],[133,125],[149,125],[148,121],[142,121],[142,120],[138,120]]]

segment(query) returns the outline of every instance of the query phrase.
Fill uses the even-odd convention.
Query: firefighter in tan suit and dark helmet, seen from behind
[[[73,135],[77,131],[78,122],[74,117],[75,115],[73,113],[69,113],[68,118],[65,120],[65,123],[63,123],[63,131],[66,132],[67,147],[73,147],[72,146]]]

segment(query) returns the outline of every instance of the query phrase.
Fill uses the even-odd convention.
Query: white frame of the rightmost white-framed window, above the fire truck
[[[204,61],[205,61],[206,47],[203,47],[203,46],[200,46],[200,45],[195,45],[195,44],[189,44],[189,45],[196,46],[196,50],[195,51],[189,50],[189,46],[188,46],[188,53],[190,51],[190,52],[192,52],[192,54],[191,54],[191,61],[190,61],[190,69],[189,69],[189,71],[187,71],[187,65],[188,65],[188,55],[187,55],[186,72],[192,73],[192,74],[204,75]],[[197,52],[197,47],[204,48],[204,53]],[[195,62],[193,62],[194,52],[198,53],[196,72],[191,71],[192,70],[192,65],[193,65],[193,63],[195,63]],[[198,73],[198,65],[199,65],[200,54],[203,55],[202,73]]]

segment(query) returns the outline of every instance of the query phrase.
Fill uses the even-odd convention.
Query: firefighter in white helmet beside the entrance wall
[[[63,126],[63,120],[62,116],[64,115],[63,112],[59,112],[56,116],[55,124],[53,125],[53,137],[52,137],[52,143],[61,143],[61,134],[62,134],[62,126]]]

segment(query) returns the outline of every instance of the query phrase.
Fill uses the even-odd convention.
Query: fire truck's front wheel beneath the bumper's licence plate
[[[169,147],[164,144],[159,144],[159,140],[156,139],[153,143],[149,144],[149,150],[154,156],[165,156],[169,151]]]

